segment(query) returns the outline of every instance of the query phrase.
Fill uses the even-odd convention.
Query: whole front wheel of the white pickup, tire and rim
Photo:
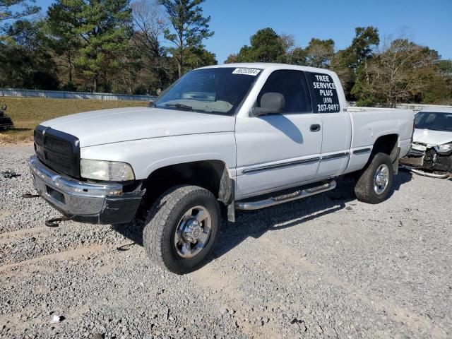
[[[198,186],[175,186],[148,213],[143,245],[153,262],[184,274],[201,265],[219,232],[220,208],[215,196]]]

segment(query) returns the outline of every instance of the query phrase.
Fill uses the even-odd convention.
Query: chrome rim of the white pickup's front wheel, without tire
[[[187,210],[179,220],[174,234],[174,246],[182,258],[193,258],[198,255],[210,238],[212,218],[203,206]]]

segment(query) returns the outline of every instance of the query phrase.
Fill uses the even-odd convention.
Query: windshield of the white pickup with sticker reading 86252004
[[[232,115],[260,72],[229,67],[191,71],[165,90],[155,107]]]

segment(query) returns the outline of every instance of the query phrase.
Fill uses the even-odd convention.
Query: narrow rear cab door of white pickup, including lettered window
[[[322,147],[318,179],[342,174],[350,157],[352,124],[337,76],[304,72],[311,93],[312,110],[322,121]]]

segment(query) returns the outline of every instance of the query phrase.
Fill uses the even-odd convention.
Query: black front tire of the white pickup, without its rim
[[[174,246],[174,234],[182,215],[189,208],[203,206],[210,213],[210,237],[202,251],[192,258],[182,258]],[[153,263],[176,274],[196,270],[210,254],[220,233],[220,207],[215,196],[198,186],[174,186],[155,201],[143,230],[143,246]]]

